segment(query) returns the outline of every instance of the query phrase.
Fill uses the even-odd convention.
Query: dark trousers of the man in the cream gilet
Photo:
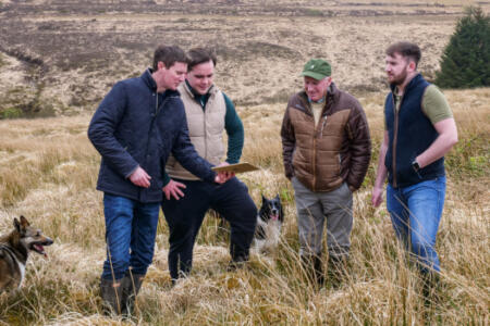
[[[172,279],[191,272],[194,243],[208,209],[213,209],[230,223],[232,260],[248,260],[257,208],[245,184],[236,177],[223,185],[175,180],[186,185],[184,197],[163,199],[161,205],[170,229],[169,271]]]

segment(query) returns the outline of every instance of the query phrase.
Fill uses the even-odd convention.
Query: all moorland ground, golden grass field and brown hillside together
[[[420,70],[434,78],[463,15],[460,1],[336,1],[328,8],[287,0],[265,7],[252,0],[228,7],[121,2],[125,8],[118,1],[50,1],[44,12],[45,2],[0,2],[0,113],[15,117],[23,108],[37,108],[36,114],[56,115],[0,121],[0,233],[23,214],[56,240],[48,259],[29,258],[23,288],[0,294],[0,325],[489,323],[490,89],[444,91],[460,142],[446,156],[438,302],[424,305],[418,273],[395,241],[385,206],[369,203],[383,133],[383,50],[402,33],[409,36],[422,49]],[[163,7],[172,14],[156,14]],[[207,216],[192,277],[171,287],[161,216],[137,314],[121,321],[100,309],[100,156],[86,128],[100,97],[117,79],[138,75],[160,40],[218,47],[217,84],[237,102],[245,125],[243,161],[261,167],[241,178],[257,204],[261,193],[281,196],[285,225],[275,251],[254,253],[246,268],[228,272],[228,229]],[[279,137],[287,96],[301,87],[298,72],[314,55],[330,60],[338,85],[362,102],[375,148],[354,199],[350,277],[336,290],[315,290],[301,268],[294,192],[283,176]]]

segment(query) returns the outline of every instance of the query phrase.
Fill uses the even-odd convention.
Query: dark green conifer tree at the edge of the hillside
[[[443,88],[490,86],[490,16],[469,7],[442,54],[436,84]]]

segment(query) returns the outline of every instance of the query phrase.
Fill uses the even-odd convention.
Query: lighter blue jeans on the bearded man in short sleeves
[[[387,206],[396,237],[417,258],[422,273],[440,272],[434,250],[444,208],[445,177],[394,189],[388,185]]]

